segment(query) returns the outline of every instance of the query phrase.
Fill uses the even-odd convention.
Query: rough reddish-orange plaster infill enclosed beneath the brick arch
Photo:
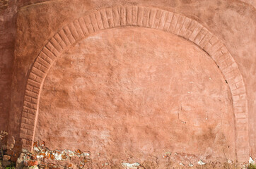
[[[115,163],[165,152],[194,163],[235,159],[231,92],[219,68],[195,44],[145,28],[105,30],[57,58],[35,133],[50,149]]]

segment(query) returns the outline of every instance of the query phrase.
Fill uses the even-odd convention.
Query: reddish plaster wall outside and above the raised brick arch
[[[256,42],[255,42],[255,1],[51,1],[34,4],[40,1],[17,1],[16,5],[3,9],[0,22],[1,27],[1,104],[0,115],[4,118],[0,123],[0,130],[7,129],[8,105],[11,108],[9,119],[11,136],[18,139],[19,124],[21,121],[21,108],[25,80],[28,70],[35,57],[59,28],[74,18],[84,15],[86,11],[104,6],[117,6],[124,4],[137,4],[144,6],[157,6],[176,13],[194,18],[202,23],[217,37],[223,40],[232,56],[235,58],[240,72],[243,75],[248,94],[248,112],[250,129],[250,147],[252,156],[256,156],[256,101],[255,101],[255,71],[256,71]],[[15,25],[17,7],[18,21]],[[13,16],[14,15],[14,16]],[[8,27],[9,30],[6,30]],[[6,32],[11,32],[8,34]],[[16,34],[15,62],[13,61],[14,38]],[[4,58],[4,59],[3,59]],[[13,66],[13,77],[11,68]],[[13,79],[12,87],[8,86]]]

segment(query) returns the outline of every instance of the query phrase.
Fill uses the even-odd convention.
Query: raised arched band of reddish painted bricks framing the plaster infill
[[[148,27],[173,33],[194,42],[214,59],[232,93],[237,160],[238,162],[248,161],[248,106],[245,85],[238,65],[226,46],[209,30],[191,18],[159,8],[143,6],[116,6],[91,11],[88,15],[64,26],[47,42],[35,59],[25,87],[21,118],[23,149],[29,151],[33,149],[40,89],[54,60],[69,46],[93,32],[124,26]]]

